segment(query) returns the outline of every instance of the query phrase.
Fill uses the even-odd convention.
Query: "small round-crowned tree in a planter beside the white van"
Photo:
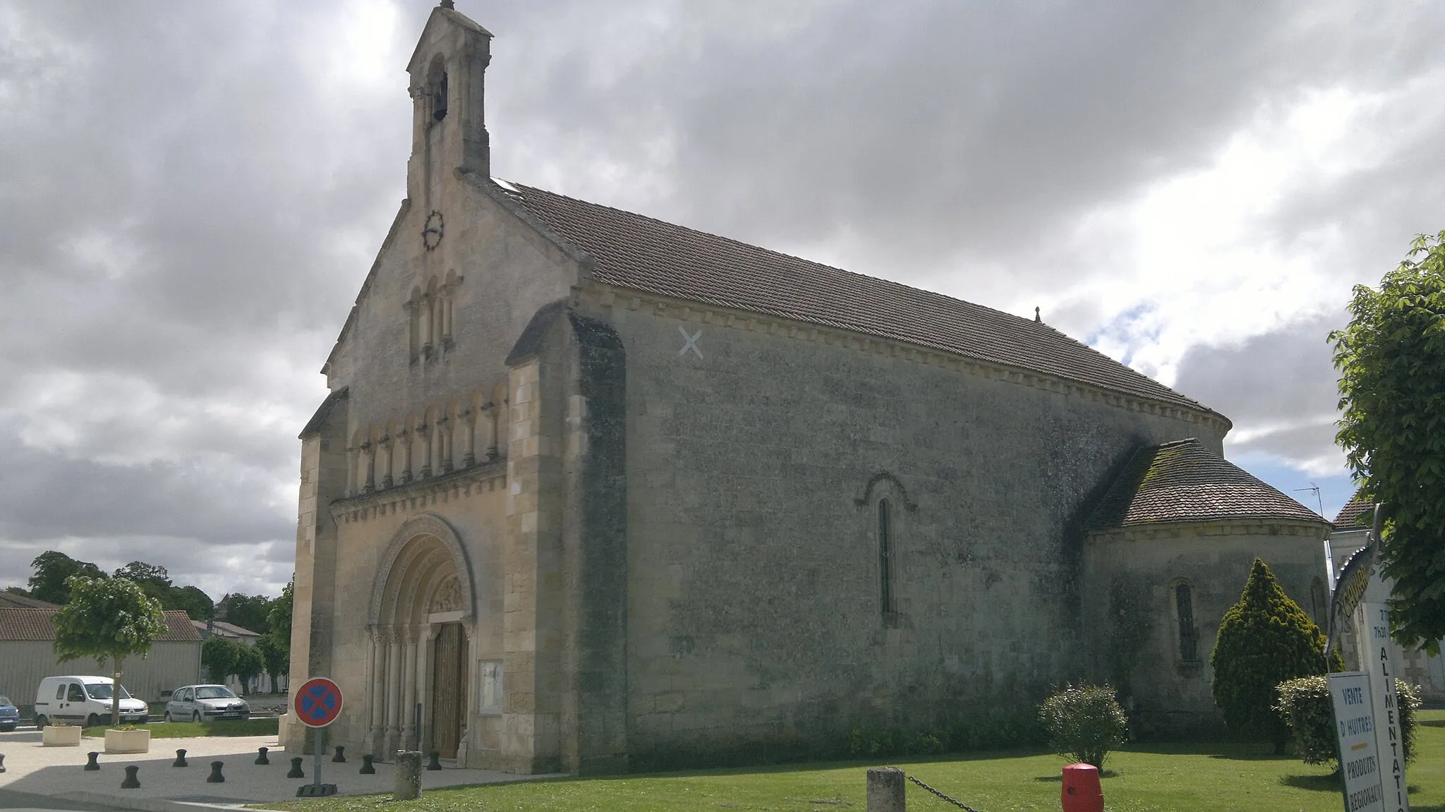
[[[101,668],[113,660],[114,685],[110,724],[120,724],[120,675],[126,657],[144,656],[150,643],[169,629],[160,601],[127,578],[87,578],[66,581],[71,600],[55,613],[55,653],[59,660],[95,657]]]

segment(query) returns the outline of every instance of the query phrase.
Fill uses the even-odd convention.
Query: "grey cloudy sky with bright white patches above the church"
[[[46,549],[289,578],[431,6],[0,0],[0,585]],[[496,35],[496,175],[1039,306],[1348,498],[1325,335],[1445,228],[1438,4],[457,6]]]

